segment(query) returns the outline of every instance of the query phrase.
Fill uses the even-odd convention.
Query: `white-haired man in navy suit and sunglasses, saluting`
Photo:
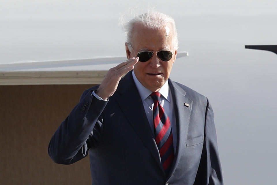
[[[208,99],[169,79],[174,20],[145,13],[126,29],[128,60],[83,92],[49,156],[72,164],[89,154],[92,184],[223,184]]]

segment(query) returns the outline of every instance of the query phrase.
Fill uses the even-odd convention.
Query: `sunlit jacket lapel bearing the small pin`
[[[192,111],[192,103],[193,101],[186,98],[186,92],[180,88],[175,82],[172,82],[170,79],[169,87],[171,89],[171,93],[174,100],[174,110],[176,116],[176,127],[177,127],[177,144],[176,144],[176,153],[173,160],[173,165],[171,167],[171,171],[169,173],[168,178],[175,171],[181,155],[182,149],[186,147],[186,138],[188,135],[188,126],[190,123],[190,115]],[[189,104],[189,107],[184,105],[184,103]]]

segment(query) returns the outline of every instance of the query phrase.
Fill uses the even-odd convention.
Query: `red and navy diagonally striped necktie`
[[[159,92],[153,92],[150,96],[154,101],[153,118],[155,140],[160,151],[162,166],[165,174],[168,175],[174,158],[171,123],[169,117],[164,112],[164,108],[160,104],[161,94]]]

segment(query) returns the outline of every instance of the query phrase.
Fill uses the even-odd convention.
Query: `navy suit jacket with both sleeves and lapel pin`
[[[177,147],[165,175],[158,147],[129,72],[109,101],[83,92],[48,146],[59,164],[72,164],[89,154],[92,184],[223,184],[213,110],[194,90],[173,82]],[[189,104],[185,106],[184,103]]]

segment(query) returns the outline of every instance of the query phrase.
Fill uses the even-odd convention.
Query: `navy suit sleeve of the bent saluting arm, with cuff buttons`
[[[72,164],[81,160],[101,139],[103,131],[101,113],[107,101],[92,96],[92,90],[95,89],[83,92],[79,103],[50,140],[48,154],[58,164]]]

